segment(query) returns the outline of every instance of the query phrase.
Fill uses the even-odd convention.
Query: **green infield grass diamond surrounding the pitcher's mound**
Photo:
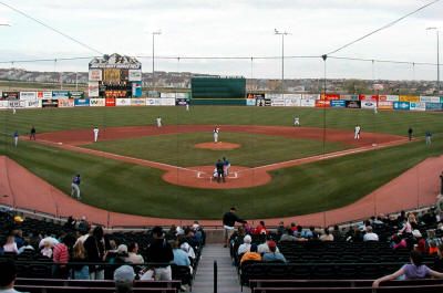
[[[210,139],[212,133],[169,134],[99,142],[84,147],[181,167],[214,165],[222,157],[227,157],[233,166],[257,167],[351,147],[327,142],[323,148],[320,140],[248,133],[223,133],[224,142],[241,145],[237,149],[212,150],[194,147]]]

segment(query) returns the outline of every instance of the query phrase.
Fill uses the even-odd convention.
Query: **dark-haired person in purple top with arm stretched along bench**
[[[443,279],[443,273],[431,270],[423,264],[422,254],[418,251],[411,251],[411,263],[404,264],[399,271],[393,274],[385,275],[377,279],[372,283],[372,287],[379,287],[381,282],[402,278],[403,280],[425,279],[426,276],[433,276]]]

